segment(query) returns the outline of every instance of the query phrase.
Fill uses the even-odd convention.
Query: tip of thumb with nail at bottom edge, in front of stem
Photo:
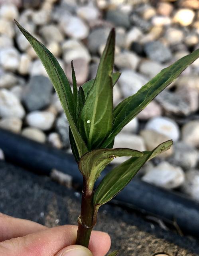
[[[55,256],[93,256],[93,254],[84,246],[70,245],[61,249]]]

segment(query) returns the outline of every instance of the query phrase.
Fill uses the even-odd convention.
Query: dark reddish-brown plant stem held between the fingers
[[[79,216],[79,219],[78,219],[76,244],[80,244],[85,247],[89,246],[91,231],[93,229],[93,215],[94,215],[93,194],[94,194],[93,189],[92,190],[88,189],[87,181],[85,180],[85,178],[83,178],[81,215]]]

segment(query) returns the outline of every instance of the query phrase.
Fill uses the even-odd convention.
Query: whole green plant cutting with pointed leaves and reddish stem
[[[83,175],[77,244],[88,247],[99,207],[116,196],[146,161],[169,149],[172,145],[172,140],[168,140],[152,151],[139,152],[128,148],[112,149],[115,136],[199,57],[199,50],[195,50],[163,69],[136,94],[126,98],[113,109],[112,88],[120,76],[119,72],[113,73],[114,29],[108,36],[96,78],[80,86],[79,90],[73,63],[71,64],[72,92],[69,81],[53,54],[18,22],[16,24],[41,59],[69,122],[71,148]],[[120,156],[130,156],[130,158],[104,176],[94,191],[95,181],[102,170],[114,157]],[[117,255],[117,253],[118,251],[114,251],[110,256]]]

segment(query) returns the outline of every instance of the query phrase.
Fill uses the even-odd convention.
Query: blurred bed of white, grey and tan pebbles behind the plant
[[[14,18],[56,56],[71,82],[95,77],[116,28],[114,106],[199,48],[199,0],[0,0],[0,128],[71,153],[68,122],[40,60]],[[140,178],[199,200],[199,60],[116,136],[114,147],[174,146]],[[0,151],[3,159],[4,153]],[[124,159],[114,160],[118,164]]]

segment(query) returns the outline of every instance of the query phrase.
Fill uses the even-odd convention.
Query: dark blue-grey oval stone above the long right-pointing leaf
[[[144,50],[151,60],[166,62],[172,58],[169,48],[160,41],[148,42],[145,44]]]

